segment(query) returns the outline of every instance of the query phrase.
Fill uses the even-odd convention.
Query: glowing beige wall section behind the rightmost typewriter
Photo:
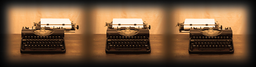
[[[174,34],[179,33],[177,23],[183,23],[185,19],[215,19],[223,28],[231,27],[233,34],[246,34],[247,32],[247,8],[246,6],[176,6],[173,8],[174,19],[172,28]]]

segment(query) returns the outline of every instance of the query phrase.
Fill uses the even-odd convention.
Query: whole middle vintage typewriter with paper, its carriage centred
[[[108,26],[105,52],[107,54],[151,53],[150,25],[142,19],[113,19]]]

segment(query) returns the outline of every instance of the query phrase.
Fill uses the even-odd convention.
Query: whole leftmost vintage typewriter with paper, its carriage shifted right
[[[75,32],[79,26],[69,19],[41,19],[34,28],[23,27],[20,53],[64,54],[66,44],[64,32]]]

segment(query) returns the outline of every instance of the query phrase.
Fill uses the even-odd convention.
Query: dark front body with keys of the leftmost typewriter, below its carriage
[[[21,53],[66,53],[64,30],[54,30],[51,35],[38,36],[32,30],[23,29]]]

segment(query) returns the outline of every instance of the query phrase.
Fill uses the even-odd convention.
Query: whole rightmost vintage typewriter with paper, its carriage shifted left
[[[222,29],[222,25],[214,19],[185,19],[177,23],[180,33],[190,33],[190,54],[233,54],[234,46],[230,27]]]

